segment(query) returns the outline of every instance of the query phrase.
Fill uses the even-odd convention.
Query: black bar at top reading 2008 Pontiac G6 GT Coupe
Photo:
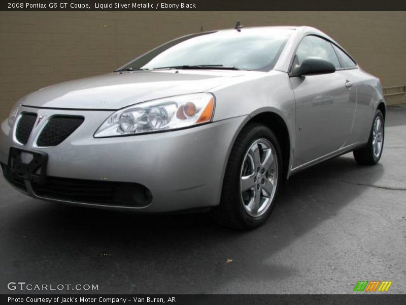
[[[0,11],[406,11],[402,0],[9,0]]]

